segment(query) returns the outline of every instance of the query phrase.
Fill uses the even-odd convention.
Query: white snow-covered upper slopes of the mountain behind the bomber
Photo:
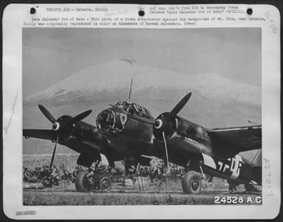
[[[188,71],[189,73],[190,71]],[[218,74],[183,74],[166,69],[139,66],[129,59],[117,59],[82,69],[55,85],[24,99],[25,105],[58,105],[80,100],[125,100],[131,78],[135,98],[171,100],[192,91],[220,103],[245,103],[261,107],[261,89],[238,83]]]

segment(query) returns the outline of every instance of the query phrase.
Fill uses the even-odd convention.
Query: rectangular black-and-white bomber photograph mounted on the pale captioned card
[[[261,204],[261,77],[260,28],[24,28],[23,204]]]

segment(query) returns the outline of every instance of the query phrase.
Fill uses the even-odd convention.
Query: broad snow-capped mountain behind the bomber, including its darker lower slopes
[[[256,86],[218,74],[182,74],[140,66],[132,59],[117,59],[82,69],[24,98],[23,128],[52,129],[38,104],[45,105],[55,117],[92,109],[84,121],[95,125],[98,113],[109,103],[127,100],[131,78],[131,100],[146,107],[154,117],[171,110],[191,91],[190,101],[180,111],[181,117],[208,128],[246,125],[248,119],[261,123],[261,89]],[[53,147],[51,141],[23,139],[23,153],[52,153]],[[58,153],[74,152],[58,146]]]

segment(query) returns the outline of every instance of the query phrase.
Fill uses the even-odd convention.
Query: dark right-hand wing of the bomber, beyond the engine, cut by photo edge
[[[262,148],[261,132],[261,125],[207,130],[212,146],[219,147],[223,151],[229,149],[233,154]]]

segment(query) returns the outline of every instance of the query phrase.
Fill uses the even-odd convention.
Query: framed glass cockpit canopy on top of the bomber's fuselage
[[[115,107],[125,110],[129,115],[139,115],[141,117],[152,118],[151,113],[146,108],[138,105],[137,103],[131,103],[126,101],[118,102],[114,105]]]

